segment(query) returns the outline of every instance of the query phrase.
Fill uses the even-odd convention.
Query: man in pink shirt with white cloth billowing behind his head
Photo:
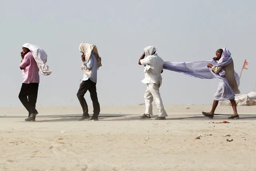
[[[20,52],[22,58],[20,70],[24,78],[19,93],[19,99],[28,111],[28,118],[25,121],[35,121],[38,111],[36,110],[36,100],[39,86],[39,70],[43,75],[50,75],[52,72],[48,70],[45,64],[47,61],[46,52],[35,45],[26,43],[22,46]]]

